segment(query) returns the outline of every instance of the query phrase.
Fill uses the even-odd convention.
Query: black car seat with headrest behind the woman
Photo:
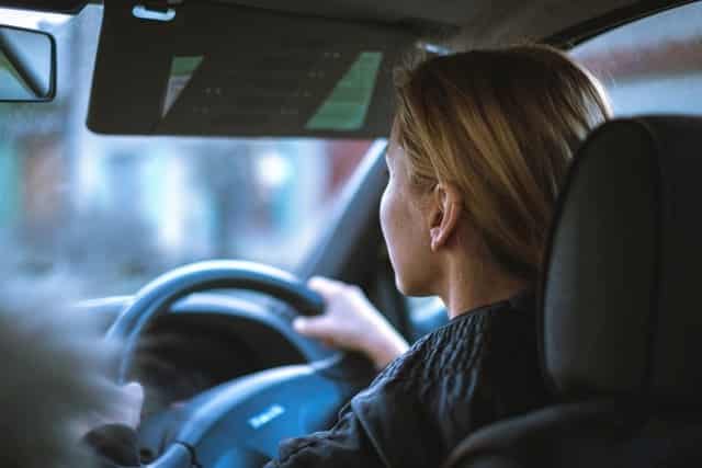
[[[702,121],[597,129],[542,279],[537,332],[558,402],[475,432],[448,466],[702,466]]]

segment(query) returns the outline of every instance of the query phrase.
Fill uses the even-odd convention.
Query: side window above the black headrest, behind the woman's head
[[[591,38],[570,56],[600,79],[614,115],[702,115],[702,2]]]

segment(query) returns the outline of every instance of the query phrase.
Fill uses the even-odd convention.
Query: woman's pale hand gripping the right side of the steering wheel
[[[318,317],[296,318],[293,327],[298,333],[330,346],[361,352],[377,369],[409,347],[358,286],[324,277],[314,277],[307,285],[325,298],[327,308]]]

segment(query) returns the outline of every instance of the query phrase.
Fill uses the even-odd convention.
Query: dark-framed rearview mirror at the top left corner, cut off
[[[56,42],[41,31],[0,25],[0,102],[52,101]]]

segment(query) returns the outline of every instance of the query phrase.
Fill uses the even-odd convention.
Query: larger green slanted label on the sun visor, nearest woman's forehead
[[[382,52],[363,52],[307,122],[308,130],[358,130],[375,91]]]

